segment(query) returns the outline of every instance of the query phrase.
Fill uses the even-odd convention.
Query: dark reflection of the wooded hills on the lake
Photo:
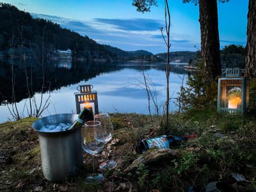
[[[3,100],[11,102],[12,100],[12,60],[0,60],[0,103]],[[32,94],[41,91],[42,85],[42,68],[39,60],[15,59],[13,62],[15,77],[15,95],[16,101],[19,102],[24,98],[28,98],[25,68],[28,73],[29,82],[32,79]],[[141,71],[139,63],[123,63],[123,62],[99,62],[99,61],[72,61],[72,60],[46,60],[44,64],[45,71],[45,89],[48,91],[51,82],[51,91],[59,90],[71,84],[76,84],[81,80],[87,81],[101,73],[109,73],[122,69],[134,69]],[[144,70],[161,70],[164,71],[161,63],[145,63]],[[173,66],[174,73],[184,73],[179,66]]]

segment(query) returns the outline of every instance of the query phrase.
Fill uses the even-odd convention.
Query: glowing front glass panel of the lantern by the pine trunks
[[[242,80],[221,81],[221,108],[241,109]]]

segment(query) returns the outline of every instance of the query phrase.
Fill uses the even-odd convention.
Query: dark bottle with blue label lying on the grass
[[[186,141],[190,138],[196,138],[196,135],[188,135],[184,137],[174,137],[170,135],[162,135],[160,137],[154,137],[149,139],[143,139],[140,141],[137,148],[139,153],[146,152],[149,148],[170,148],[180,145],[181,141]]]

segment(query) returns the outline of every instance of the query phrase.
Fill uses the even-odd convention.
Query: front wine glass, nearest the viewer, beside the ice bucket
[[[104,137],[101,123],[99,121],[88,121],[82,127],[82,148],[93,155],[93,173],[86,178],[88,183],[96,183],[104,180],[101,174],[95,173],[95,155],[102,151],[104,146]]]

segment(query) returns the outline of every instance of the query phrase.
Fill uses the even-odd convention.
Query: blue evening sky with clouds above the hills
[[[87,35],[99,44],[125,51],[166,52],[160,27],[164,27],[164,1],[142,14],[132,0],[0,0],[33,17],[52,20],[62,27]],[[249,0],[230,0],[218,4],[221,49],[225,45],[246,45]],[[171,51],[200,49],[199,7],[182,0],[169,0]]]

